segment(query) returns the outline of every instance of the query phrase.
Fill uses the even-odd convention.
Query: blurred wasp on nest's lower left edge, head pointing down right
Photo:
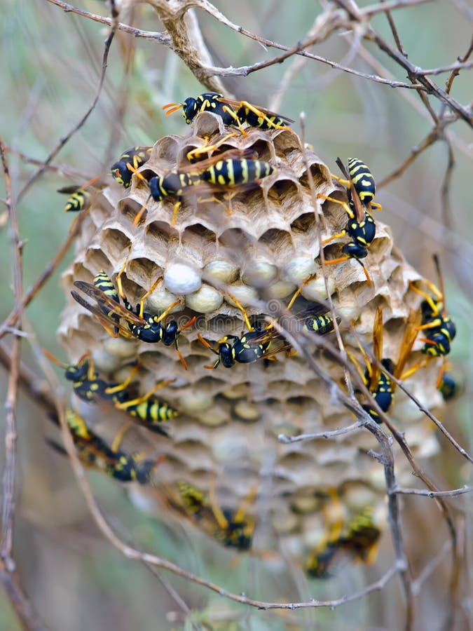
[[[53,420],[58,424],[57,419]],[[128,454],[119,449],[119,445],[109,446],[70,408],[66,409],[66,421],[79,459],[84,466],[107,473],[121,482],[147,484],[151,481],[151,473],[160,459],[144,460],[142,454]],[[48,443],[57,452],[67,454],[64,447],[55,440],[48,439]]]

